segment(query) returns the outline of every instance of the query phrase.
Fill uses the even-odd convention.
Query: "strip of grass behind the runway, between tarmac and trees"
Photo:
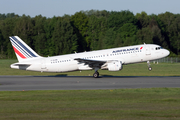
[[[10,64],[17,60],[0,60],[0,75],[33,75],[33,76],[92,76],[91,71],[75,71],[67,73],[41,73],[33,71],[24,71],[11,69]],[[99,70],[101,76],[180,76],[180,63],[151,63],[152,71],[148,70],[146,63],[123,65],[123,70],[110,72],[108,70]]]

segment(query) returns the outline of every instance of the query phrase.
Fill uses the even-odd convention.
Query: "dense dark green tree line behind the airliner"
[[[80,11],[31,18],[0,14],[0,58],[16,58],[9,36],[19,36],[39,55],[54,56],[136,44],[158,44],[180,55],[180,14]]]

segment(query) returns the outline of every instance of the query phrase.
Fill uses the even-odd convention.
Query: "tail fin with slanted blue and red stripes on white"
[[[19,62],[27,59],[40,57],[33,49],[31,49],[25,42],[18,36],[9,37],[13,46],[14,52]]]

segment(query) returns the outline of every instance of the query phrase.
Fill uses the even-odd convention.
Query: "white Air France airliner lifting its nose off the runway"
[[[124,64],[145,62],[151,70],[150,60],[169,55],[169,51],[155,44],[142,44],[91,52],[74,53],[53,57],[41,57],[18,36],[9,37],[18,63],[10,67],[40,72],[69,72],[77,70],[95,70],[93,77],[99,77],[99,69],[120,71]]]

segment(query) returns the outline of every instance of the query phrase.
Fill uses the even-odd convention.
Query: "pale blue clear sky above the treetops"
[[[79,11],[129,10],[136,13],[146,12],[148,15],[161,14],[166,11],[180,14],[180,0],[0,0],[0,14],[15,13],[35,17],[74,15]]]

